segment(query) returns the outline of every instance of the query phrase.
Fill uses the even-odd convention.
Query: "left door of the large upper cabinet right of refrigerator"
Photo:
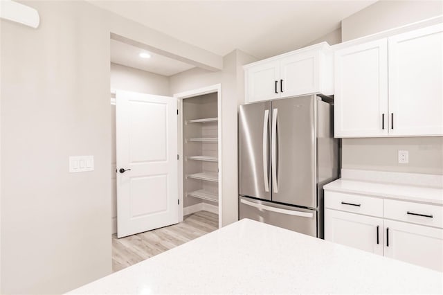
[[[343,48],[334,60],[335,137],[387,135],[388,40]]]

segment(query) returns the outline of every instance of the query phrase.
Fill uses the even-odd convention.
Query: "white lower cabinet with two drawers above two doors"
[[[350,196],[325,190],[325,240],[443,271],[442,206],[380,197],[383,207],[370,211],[365,206],[374,198],[362,195],[355,195],[352,206],[334,205],[349,204]]]

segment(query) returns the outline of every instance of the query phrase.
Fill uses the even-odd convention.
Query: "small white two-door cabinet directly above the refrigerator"
[[[332,53],[326,42],[247,64],[244,71],[246,103],[334,92]]]

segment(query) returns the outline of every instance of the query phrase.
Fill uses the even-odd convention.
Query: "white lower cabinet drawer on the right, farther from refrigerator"
[[[385,199],[383,217],[443,228],[443,207]]]

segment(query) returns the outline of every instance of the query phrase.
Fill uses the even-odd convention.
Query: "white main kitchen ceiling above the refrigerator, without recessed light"
[[[240,49],[259,59],[305,46],[374,2],[91,0],[100,8],[217,55]]]

